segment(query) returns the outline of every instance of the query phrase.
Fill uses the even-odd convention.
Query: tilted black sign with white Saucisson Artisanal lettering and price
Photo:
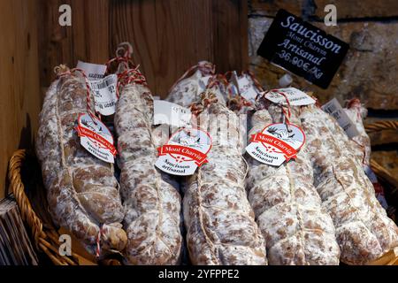
[[[281,9],[257,54],[318,87],[327,88],[348,48],[348,43]]]

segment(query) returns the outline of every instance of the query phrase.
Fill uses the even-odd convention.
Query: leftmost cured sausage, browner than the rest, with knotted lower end
[[[64,74],[45,96],[36,139],[50,214],[91,253],[96,253],[97,241],[102,249],[122,250],[124,208],[113,166],[84,149],[74,129],[79,114],[87,111],[86,85],[65,66],[58,70]]]

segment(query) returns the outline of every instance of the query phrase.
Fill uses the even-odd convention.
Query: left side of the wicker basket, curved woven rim
[[[27,150],[19,149],[11,157],[8,178],[11,193],[15,196],[19,206],[21,218],[30,228],[31,238],[36,249],[48,256],[52,264],[56,265],[120,265],[117,258],[107,258],[100,262],[95,256],[80,245],[79,241],[72,238],[72,255],[60,256],[58,241],[65,229],[59,229],[51,221],[46,193],[42,185],[40,166],[33,154]]]

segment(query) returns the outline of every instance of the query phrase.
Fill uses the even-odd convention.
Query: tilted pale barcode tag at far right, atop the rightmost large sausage
[[[333,98],[328,103],[322,106],[322,110],[329,113],[337,120],[337,123],[343,128],[348,135],[348,138],[352,139],[359,134],[355,124],[349,119],[347,113],[342,109],[341,104],[336,98]]]

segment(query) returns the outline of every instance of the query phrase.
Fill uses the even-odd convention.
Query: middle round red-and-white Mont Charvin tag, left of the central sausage
[[[172,134],[169,142],[157,149],[156,166],[163,172],[188,176],[207,163],[211,149],[210,134],[199,128],[184,128]]]

